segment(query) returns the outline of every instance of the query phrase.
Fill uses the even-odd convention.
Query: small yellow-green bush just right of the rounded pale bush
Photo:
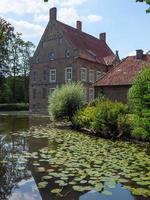
[[[91,124],[94,119],[94,106],[87,106],[78,110],[73,116],[73,125],[76,128],[91,128]]]

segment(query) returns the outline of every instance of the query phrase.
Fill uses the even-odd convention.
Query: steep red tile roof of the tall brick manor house
[[[115,57],[105,41],[58,21],[66,38],[79,49],[79,57],[106,64],[104,58]]]

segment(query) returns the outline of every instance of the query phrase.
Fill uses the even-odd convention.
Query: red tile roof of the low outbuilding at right
[[[117,67],[112,68],[102,79],[95,82],[95,86],[131,85],[134,77],[146,65],[150,64],[150,55],[143,55],[143,59],[136,56],[125,58]]]

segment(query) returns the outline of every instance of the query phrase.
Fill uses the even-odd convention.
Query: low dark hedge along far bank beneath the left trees
[[[0,111],[24,111],[29,110],[28,103],[0,104]]]

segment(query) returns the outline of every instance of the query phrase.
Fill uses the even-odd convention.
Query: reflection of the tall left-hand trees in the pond
[[[26,139],[14,136],[0,138],[0,199],[7,199],[13,188],[22,179],[31,177],[27,162],[19,156],[26,150]]]

